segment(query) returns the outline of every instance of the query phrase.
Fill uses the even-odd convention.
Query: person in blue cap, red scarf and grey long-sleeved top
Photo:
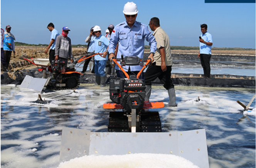
[[[67,60],[70,58],[71,63],[73,62],[71,39],[67,36],[69,33],[69,28],[64,26],[62,28],[61,35],[56,38],[56,47],[55,47],[55,60],[65,61],[67,67]]]

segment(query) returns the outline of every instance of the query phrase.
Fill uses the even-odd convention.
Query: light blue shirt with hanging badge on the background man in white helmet
[[[108,48],[108,44],[109,44],[109,40],[103,36],[103,35],[100,35],[98,38],[95,36],[95,38],[92,39],[93,42],[93,47],[95,49],[95,53],[103,53],[107,50]],[[108,56],[106,56],[106,58],[103,58],[99,55],[96,55],[94,56],[94,59],[96,61],[99,61],[99,60],[108,60],[107,58]]]

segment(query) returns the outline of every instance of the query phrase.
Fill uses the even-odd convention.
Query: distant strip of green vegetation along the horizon
[[[27,43],[21,43],[21,42],[15,42],[15,46],[45,46],[47,47],[48,44],[27,44]],[[86,44],[75,44],[72,45],[72,47],[87,47]],[[150,46],[145,45],[145,49],[150,49]],[[191,50],[191,49],[198,49],[199,47],[188,47],[188,46],[171,46],[171,49],[176,49],[176,50]],[[255,49],[253,48],[217,48],[213,47],[212,50],[238,50],[238,51],[253,51]]]

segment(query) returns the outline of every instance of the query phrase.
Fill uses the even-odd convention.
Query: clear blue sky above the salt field
[[[127,0],[1,0],[1,27],[12,26],[16,41],[49,44],[52,22],[61,33],[71,30],[72,44],[86,44],[92,26],[102,34],[109,24],[125,21],[123,7]],[[129,1],[131,2],[131,1]],[[200,25],[206,23],[213,36],[213,47],[255,48],[255,3],[204,3],[204,0],[134,0],[137,21],[148,25],[158,17],[170,38],[171,46],[199,46]]]

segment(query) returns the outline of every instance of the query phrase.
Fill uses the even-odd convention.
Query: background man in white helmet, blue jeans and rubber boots
[[[103,53],[102,56],[96,55],[94,56],[95,60],[95,76],[96,76],[96,85],[101,84],[101,87],[106,86],[105,82],[105,66],[106,66],[106,61],[108,58],[106,56],[108,55],[108,45],[109,45],[109,40],[101,35],[101,28],[99,26],[94,26],[93,32],[95,35],[95,38],[93,38],[92,42],[94,45],[95,53]]]

